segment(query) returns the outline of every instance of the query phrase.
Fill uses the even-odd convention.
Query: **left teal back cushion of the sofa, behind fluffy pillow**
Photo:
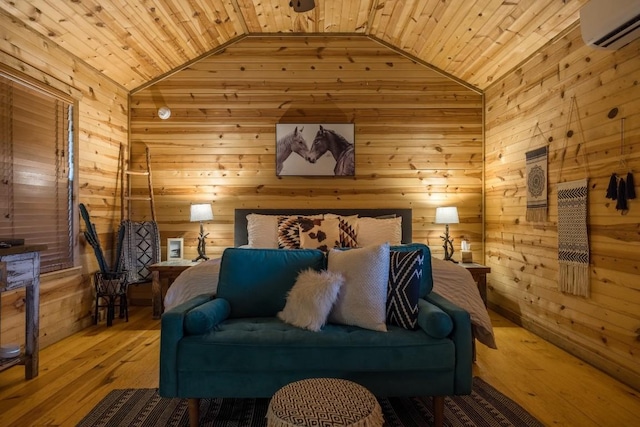
[[[276,316],[298,273],[325,267],[317,249],[228,248],[222,254],[217,296],[231,306],[230,318]]]

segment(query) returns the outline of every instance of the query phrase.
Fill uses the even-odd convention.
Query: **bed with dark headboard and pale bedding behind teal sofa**
[[[376,239],[395,240],[392,244],[410,243],[412,238],[411,209],[236,209],[234,243],[236,247],[278,247],[278,217],[322,216],[332,214],[350,218],[353,224],[363,225],[366,242]],[[276,230],[273,230],[273,227]],[[365,224],[373,224],[373,226]],[[342,224],[341,224],[342,226]],[[380,233],[385,233],[380,234]],[[374,236],[375,234],[375,236]],[[365,239],[364,234],[360,236]],[[274,243],[274,239],[276,242]],[[450,261],[431,258],[433,291],[467,310],[471,316],[476,339],[490,348],[497,348],[493,327],[480,291],[471,273]],[[220,258],[213,258],[185,270],[167,290],[166,310],[201,294],[215,294],[218,285]]]

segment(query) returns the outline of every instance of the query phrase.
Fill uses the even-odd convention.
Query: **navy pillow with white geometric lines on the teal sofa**
[[[391,251],[387,288],[387,323],[415,329],[418,323],[418,299],[424,254]]]

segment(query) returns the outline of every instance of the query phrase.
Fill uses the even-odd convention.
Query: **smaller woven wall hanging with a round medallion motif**
[[[527,221],[547,219],[547,146],[527,151]]]

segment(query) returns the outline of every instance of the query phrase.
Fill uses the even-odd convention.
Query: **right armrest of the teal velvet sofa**
[[[440,307],[453,321],[453,330],[449,337],[456,347],[455,394],[469,394],[473,377],[471,316],[466,310],[435,292],[426,295],[424,299]]]

